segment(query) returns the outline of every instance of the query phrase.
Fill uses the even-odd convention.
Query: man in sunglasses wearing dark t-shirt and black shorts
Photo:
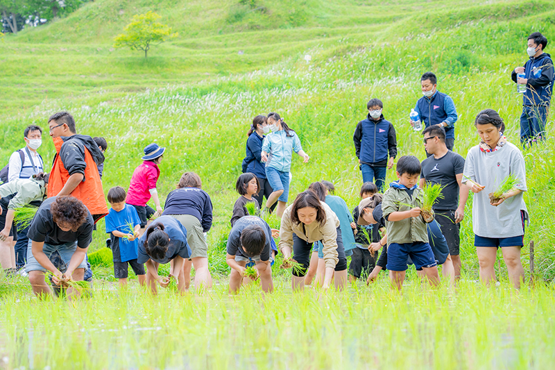
[[[441,232],[447,240],[453,261],[455,278],[461,276],[461,257],[459,253],[460,222],[464,218],[464,207],[468,199],[468,187],[462,183],[464,158],[447,149],[445,131],[438,126],[429,126],[422,131],[424,147],[428,158],[422,161],[420,187],[427,183],[443,186],[443,199],[438,199],[433,206],[436,221],[441,225]]]

